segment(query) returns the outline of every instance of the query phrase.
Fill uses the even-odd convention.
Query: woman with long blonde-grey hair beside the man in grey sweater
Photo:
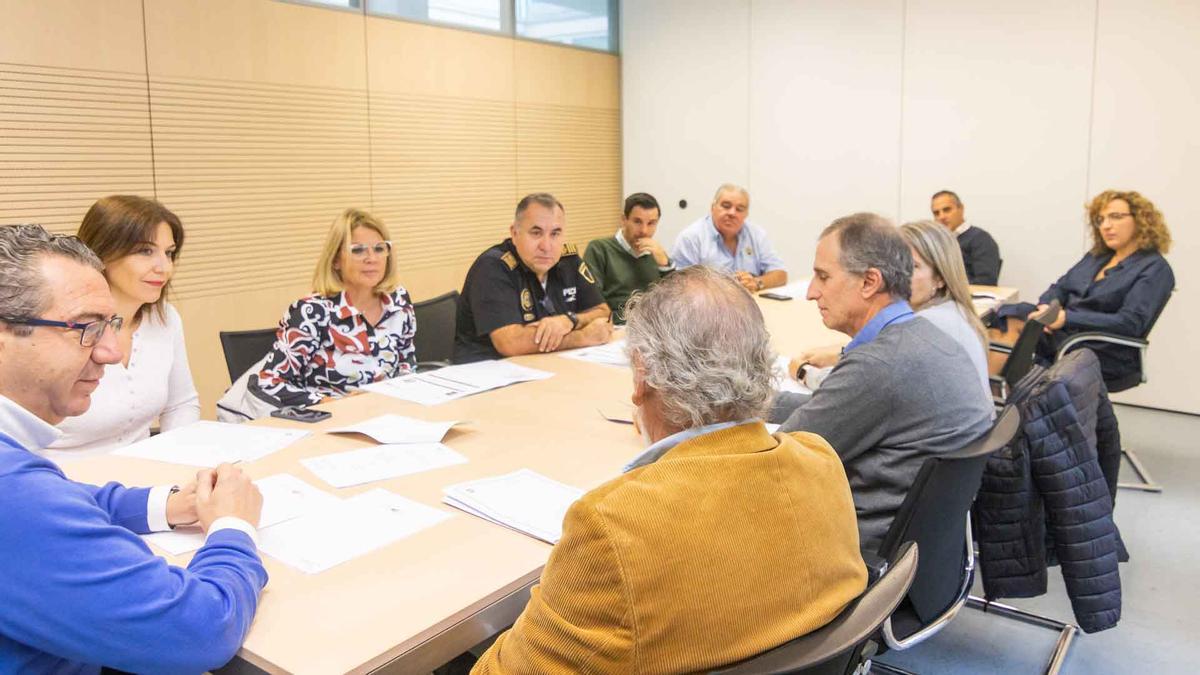
[[[946,227],[928,220],[900,226],[912,251],[912,297],[908,304],[962,346],[979,372],[979,387],[991,402],[988,383],[988,334],[971,303],[962,252]]]

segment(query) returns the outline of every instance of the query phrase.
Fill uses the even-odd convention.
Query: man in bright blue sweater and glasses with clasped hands
[[[0,227],[0,673],[199,673],[233,658],[266,571],[263,497],[238,468],[184,489],[68,480],[36,454],[119,363],[121,318],[74,237]],[[187,569],[139,533],[198,524]]]

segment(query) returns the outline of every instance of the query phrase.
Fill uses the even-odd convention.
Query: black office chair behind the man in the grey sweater
[[[883,623],[883,643],[888,649],[906,650],[928,640],[970,604],[1060,629],[1060,644],[1050,659],[1054,669],[1046,673],[1057,673],[1061,668],[1078,627],[970,595],[976,567],[971,504],[979,491],[988,458],[1010,443],[1020,425],[1020,412],[1006,407],[983,438],[962,450],[929,458],[922,465],[880,544],[878,558],[882,560],[896,555],[904,542],[916,542],[920,548],[920,566],[908,596]],[[874,670],[906,673],[878,661],[872,662]]]

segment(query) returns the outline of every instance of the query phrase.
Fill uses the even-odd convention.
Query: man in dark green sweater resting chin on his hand
[[[583,253],[618,325],[625,323],[625,303],[635,291],[674,271],[674,263],[654,239],[662,214],[658,199],[635,192],[625,198],[624,213],[617,234],[593,239]]]

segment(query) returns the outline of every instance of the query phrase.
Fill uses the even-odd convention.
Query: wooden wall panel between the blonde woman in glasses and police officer
[[[367,49],[372,193],[401,280],[449,268],[438,292],[458,288],[516,202],[512,41],[367,18]]]

